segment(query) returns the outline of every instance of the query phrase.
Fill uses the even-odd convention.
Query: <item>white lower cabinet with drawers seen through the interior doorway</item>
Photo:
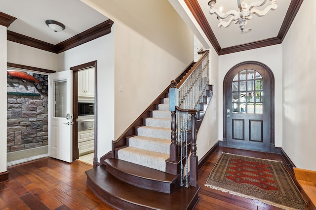
[[[94,129],[78,132],[79,156],[94,151]]]

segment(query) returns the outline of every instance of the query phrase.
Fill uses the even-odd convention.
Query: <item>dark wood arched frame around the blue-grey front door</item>
[[[261,67],[263,67],[270,78],[271,81],[271,86],[269,88],[270,94],[271,94],[271,98],[272,100],[270,101],[271,103],[271,107],[272,107],[272,112],[270,113],[270,117],[271,117],[271,137],[270,137],[270,152],[275,152],[276,148],[275,148],[275,118],[274,118],[274,112],[275,112],[275,78],[274,78],[274,74],[272,72],[272,70],[264,63],[258,62],[258,61],[244,61],[244,62],[240,62],[238,64],[236,64],[235,66],[233,66],[225,75],[224,77],[224,81],[223,81],[223,142],[221,142],[221,146],[227,146],[226,144],[226,129],[227,129],[227,119],[226,119],[226,83],[228,82],[228,75],[237,67],[239,67],[240,65],[245,65],[245,64],[255,64],[255,65],[259,65]]]

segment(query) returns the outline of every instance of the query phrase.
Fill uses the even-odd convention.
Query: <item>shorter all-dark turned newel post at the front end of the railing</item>
[[[197,169],[197,135],[196,135],[196,115],[191,114],[191,156],[190,156],[190,185],[198,186],[198,169]]]

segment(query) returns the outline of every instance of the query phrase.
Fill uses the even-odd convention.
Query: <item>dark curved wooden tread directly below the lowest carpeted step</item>
[[[156,169],[148,168],[138,164],[130,163],[117,158],[109,158],[105,160],[106,164],[110,164],[112,167],[119,171],[123,171],[126,174],[134,175],[141,178],[150,180],[160,180],[164,182],[172,182],[176,176]]]

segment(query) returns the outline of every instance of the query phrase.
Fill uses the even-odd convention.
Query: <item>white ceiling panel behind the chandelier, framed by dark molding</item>
[[[252,14],[252,19],[247,21],[248,23],[245,27],[245,29],[252,28],[252,30],[250,32],[240,33],[239,25],[234,23],[228,28],[219,28],[217,26],[218,20],[216,14],[209,14],[210,7],[208,6],[208,1],[209,0],[197,0],[221,48],[276,37],[291,3],[291,0],[276,0],[276,10],[270,10],[263,17]],[[248,5],[253,1],[254,0],[245,0]],[[257,9],[263,10],[268,5],[271,5],[270,0],[267,0],[262,7],[257,7]],[[217,0],[215,8],[219,9],[220,6],[223,7],[223,13],[229,10],[238,11],[237,0]]]

